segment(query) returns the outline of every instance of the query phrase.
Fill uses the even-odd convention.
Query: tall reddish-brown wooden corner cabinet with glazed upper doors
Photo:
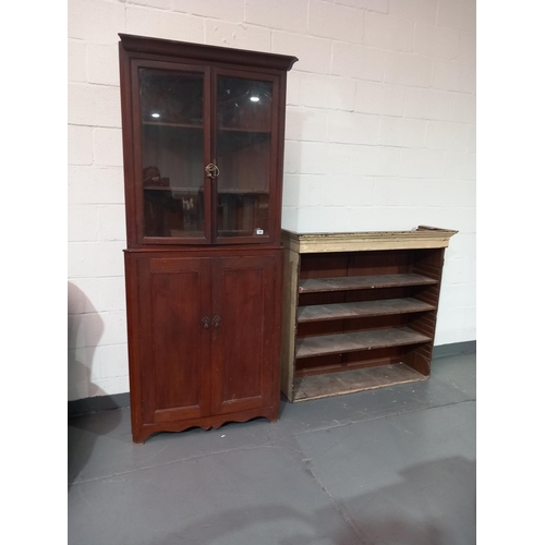
[[[294,57],[120,34],[134,443],[277,420]]]

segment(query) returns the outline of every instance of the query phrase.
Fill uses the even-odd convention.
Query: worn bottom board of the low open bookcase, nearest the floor
[[[293,398],[291,401],[295,403],[311,399],[330,398],[343,393],[427,380],[427,376],[417,373],[404,363],[305,376],[293,380]]]

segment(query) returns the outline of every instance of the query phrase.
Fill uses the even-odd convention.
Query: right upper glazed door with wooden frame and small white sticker
[[[220,244],[271,242],[280,184],[279,77],[215,70],[215,237]]]

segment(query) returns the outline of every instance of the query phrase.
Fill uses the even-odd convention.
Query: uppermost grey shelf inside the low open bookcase
[[[437,283],[437,280],[415,274],[308,278],[300,281],[299,293],[397,288],[404,286],[426,286],[433,283]]]

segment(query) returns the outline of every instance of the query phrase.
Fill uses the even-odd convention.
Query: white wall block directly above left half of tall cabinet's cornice
[[[197,44],[205,39],[204,19],[146,8],[126,8],[126,32]]]

